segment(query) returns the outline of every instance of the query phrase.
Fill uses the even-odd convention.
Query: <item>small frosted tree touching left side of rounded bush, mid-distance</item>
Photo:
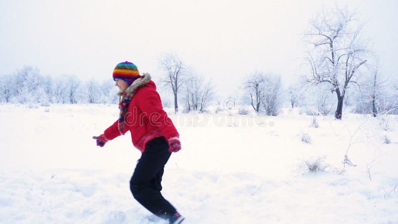
[[[249,94],[250,103],[255,112],[260,112],[261,94],[265,79],[262,72],[256,71],[243,83],[242,89]]]

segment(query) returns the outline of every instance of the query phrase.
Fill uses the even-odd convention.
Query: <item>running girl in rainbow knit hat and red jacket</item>
[[[130,180],[131,193],[156,216],[181,224],[184,217],[160,193],[164,166],[171,153],[181,149],[179,133],[163,110],[149,74],[141,76],[137,66],[126,61],[116,65],[113,80],[120,90],[119,119],[93,138],[103,147],[130,131],[133,145],[142,153]]]

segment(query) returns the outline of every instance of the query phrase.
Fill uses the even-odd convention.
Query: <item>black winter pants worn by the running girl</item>
[[[134,198],[147,210],[163,219],[168,219],[176,213],[176,209],[160,193],[164,167],[170,155],[165,137],[150,140],[130,180],[130,190]]]

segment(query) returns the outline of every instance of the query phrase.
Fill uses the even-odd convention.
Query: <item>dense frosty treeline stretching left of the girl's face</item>
[[[0,77],[0,102],[19,104],[113,104],[118,102],[113,80],[82,81],[76,76],[43,76],[25,66]]]

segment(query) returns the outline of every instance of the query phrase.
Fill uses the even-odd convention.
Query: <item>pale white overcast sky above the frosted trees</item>
[[[339,5],[345,0],[336,1]],[[253,71],[291,82],[302,35],[322,0],[0,0],[0,75],[24,65],[43,75],[110,79],[131,61],[159,77],[162,53],[175,51],[220,95],[233,95]],[[396,0],[349,0],[373,41],[382,72],[397,76]]]

